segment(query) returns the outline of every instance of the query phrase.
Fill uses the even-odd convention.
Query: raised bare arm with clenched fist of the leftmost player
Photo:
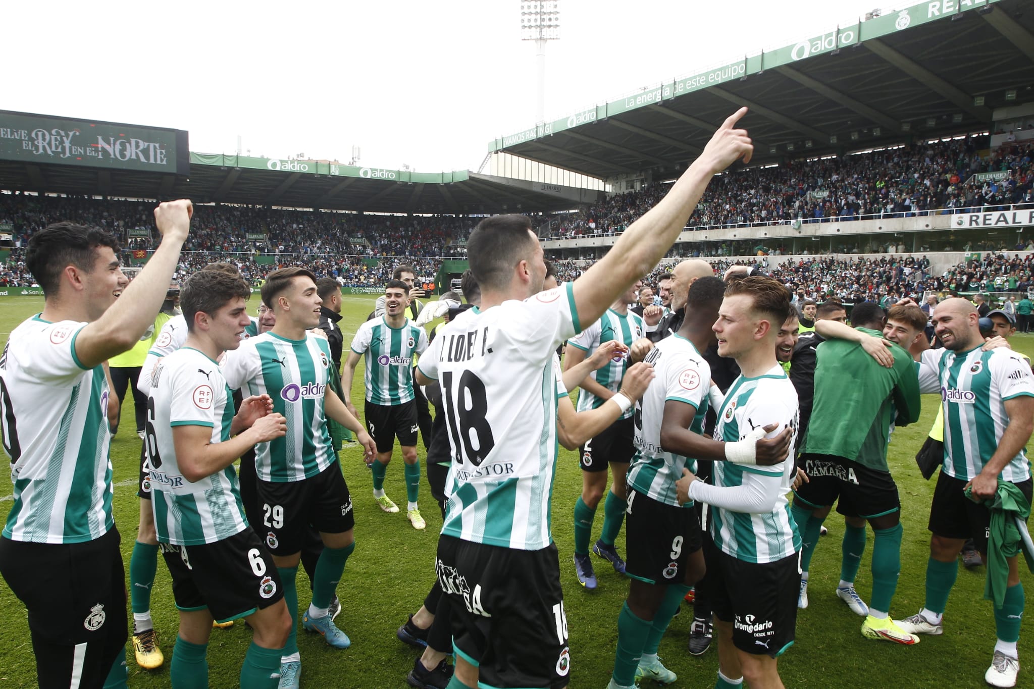
[[[75,357],[84,369],[92,369],[131,349],[154,324],[179,263],[192,215],[193,206],[184,199],[159,203],[154,210],[154,220],[161,232],[157,251],[104,315],[87,324],[75,337]]]

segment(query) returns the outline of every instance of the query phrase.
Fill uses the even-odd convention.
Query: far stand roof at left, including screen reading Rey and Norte
[[[0,189],[458,215],[562,211],[602,193],[467,170],[193,153],[181,130],[7,111],[0,111]]]

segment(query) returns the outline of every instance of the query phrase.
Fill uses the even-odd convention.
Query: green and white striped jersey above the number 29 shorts
[[[231,389],[269,395],[273,411],[287,419],[287,435],[255,445],[262,480],[304,480],[337,461],[324,414],[330,371],[330,345],[311,333],[304,340],[263,333],[226,352],[222,375]]]

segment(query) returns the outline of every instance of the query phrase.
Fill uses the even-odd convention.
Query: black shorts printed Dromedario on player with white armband
[[[800,552],[766,563],[743,562],[707,540],[714,576],[714,616],[732,623],[732,644],[744,653],[778,658],[793,645],[800,593]]]

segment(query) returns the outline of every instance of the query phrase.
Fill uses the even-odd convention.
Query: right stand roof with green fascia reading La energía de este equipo
[[[598,178],[673,177],[739,105],[752,163],[990,127],[1034,100],[1029,0],[927,0],[494,139],[489,151]]]

